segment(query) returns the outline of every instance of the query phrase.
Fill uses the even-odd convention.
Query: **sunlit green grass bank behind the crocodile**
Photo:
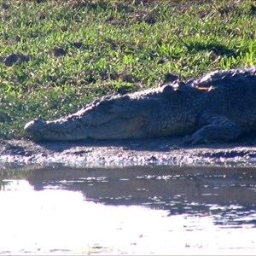
[[[92,99],[256,66],[255,2],[0,1],[0,137]],[[9,63],[11,54],[21,57]],[[61,55],[62,54],[62,55]],[[6,65],[7,64],[7,65]]]

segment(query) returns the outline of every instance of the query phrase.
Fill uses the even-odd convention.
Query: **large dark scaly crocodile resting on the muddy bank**
[[[103,96],[60,119],[34,119],[37,141],[181,137],[222,143],[256,131],[256,67],[218,70],[201,78]]]

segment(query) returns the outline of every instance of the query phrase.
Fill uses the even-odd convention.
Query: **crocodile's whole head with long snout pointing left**
[[[130,96],[105,96],[66,118],[32,120],[25,131],[36,141],[143,137],[146,114]]]

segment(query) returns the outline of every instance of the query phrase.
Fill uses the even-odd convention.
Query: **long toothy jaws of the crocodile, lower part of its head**
[[[144,121],[137,119],[111,119],[103,124],[86,124],[81,119],[55,121],[32,120],[24,127],[35,141],[73,141],[86,139],[123,139],[143,137]]]

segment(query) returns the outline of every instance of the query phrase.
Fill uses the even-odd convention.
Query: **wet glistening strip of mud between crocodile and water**
[[[256,166],[256,137],[236,143],[184,146],[180,137],[143,140],[45,142],[0,140],[2,166]]]

